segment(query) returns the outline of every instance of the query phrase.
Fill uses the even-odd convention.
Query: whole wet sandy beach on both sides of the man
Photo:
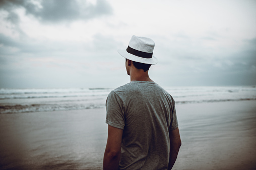
[[[176,105],[173,169],[255,169],[256,102]],[[105,109],[0,115],[0,169],[102,169]]]

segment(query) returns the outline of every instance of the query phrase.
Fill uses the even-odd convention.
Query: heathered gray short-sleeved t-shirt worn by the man
[[[154,82],[132,81],[111,91],[106,123],[123,129],[119,169],[167,169],[169,130],[178,127],[174,100]]]

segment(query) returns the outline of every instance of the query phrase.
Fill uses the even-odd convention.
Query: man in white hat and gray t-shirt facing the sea
[[[111,91],[106,101],[108,138],[103,169],[171,169],[181,140],[174,100],[149,78],[157,63],[155,43],[133,36],[125,58],[131,82]]]

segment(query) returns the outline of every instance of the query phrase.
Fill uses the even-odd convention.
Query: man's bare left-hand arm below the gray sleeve
[[[108,125],[107,145],[103,169],[118,169],[121,154],[122,129]]]

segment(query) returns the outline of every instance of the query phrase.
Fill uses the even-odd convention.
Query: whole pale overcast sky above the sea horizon
[[[0,88],[118,87],[133,35],[162,86],[256,85],[256,1],[0,1]]]

